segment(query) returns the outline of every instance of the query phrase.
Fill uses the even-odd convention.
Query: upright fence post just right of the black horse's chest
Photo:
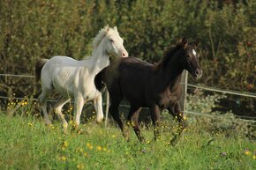
[[[182,94],[179,99],[180,109],[184,112],[185,111],[185,102],[186,102],[186,91],[187,91],[187,70],[184,70],[181,76],[181,86],[182,86]]]

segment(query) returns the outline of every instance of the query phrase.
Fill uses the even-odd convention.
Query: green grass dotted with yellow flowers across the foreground
[[[256,169],[255,141],[239,135],[190,127],[169,146],[171,134],[153,142],[151,128],[142,129],[148,144],[139,144],[132,129],[128,143],[115,127],[91,121],[81,128],[64,135],[58,122],[46,127],[38,118],[0,115],[0,169]]]

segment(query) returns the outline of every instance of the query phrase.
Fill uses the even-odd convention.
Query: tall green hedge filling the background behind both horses
[[[220,2],[2,0],[0,71],[31,75],[41,57],[85,58],[91,55],[96,33],[109,24],[118,27],[130,55],[151,63],[159,61],[163,50],[177,39],[200,37],[204,71],[200,83],[256,92],[256,4],[252,0],[235,6]],[[29,78],[1,77],[0,92],[37,96],[40,85]],[[248,102],[253,106],[254,101]]]

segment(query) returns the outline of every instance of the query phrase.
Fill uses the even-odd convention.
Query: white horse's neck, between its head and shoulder
[[[91,58],[92,71],[97,74],[109,65],[109,55],[101,42],[97,48],[94,48]]]

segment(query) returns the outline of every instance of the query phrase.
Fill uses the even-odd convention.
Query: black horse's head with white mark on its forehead
[[[185,70],[188,70],[193,78],[200,78],[202,76],[202,69],[200,67],[199,63],[199,55],[197,54],[196,48],[199,45],[199,39],[193,42],[187,41],[187,39],[184,37],[179,43],[184,49],[183,52],[183,58],[182,58],[182,64],[184,66]]]

